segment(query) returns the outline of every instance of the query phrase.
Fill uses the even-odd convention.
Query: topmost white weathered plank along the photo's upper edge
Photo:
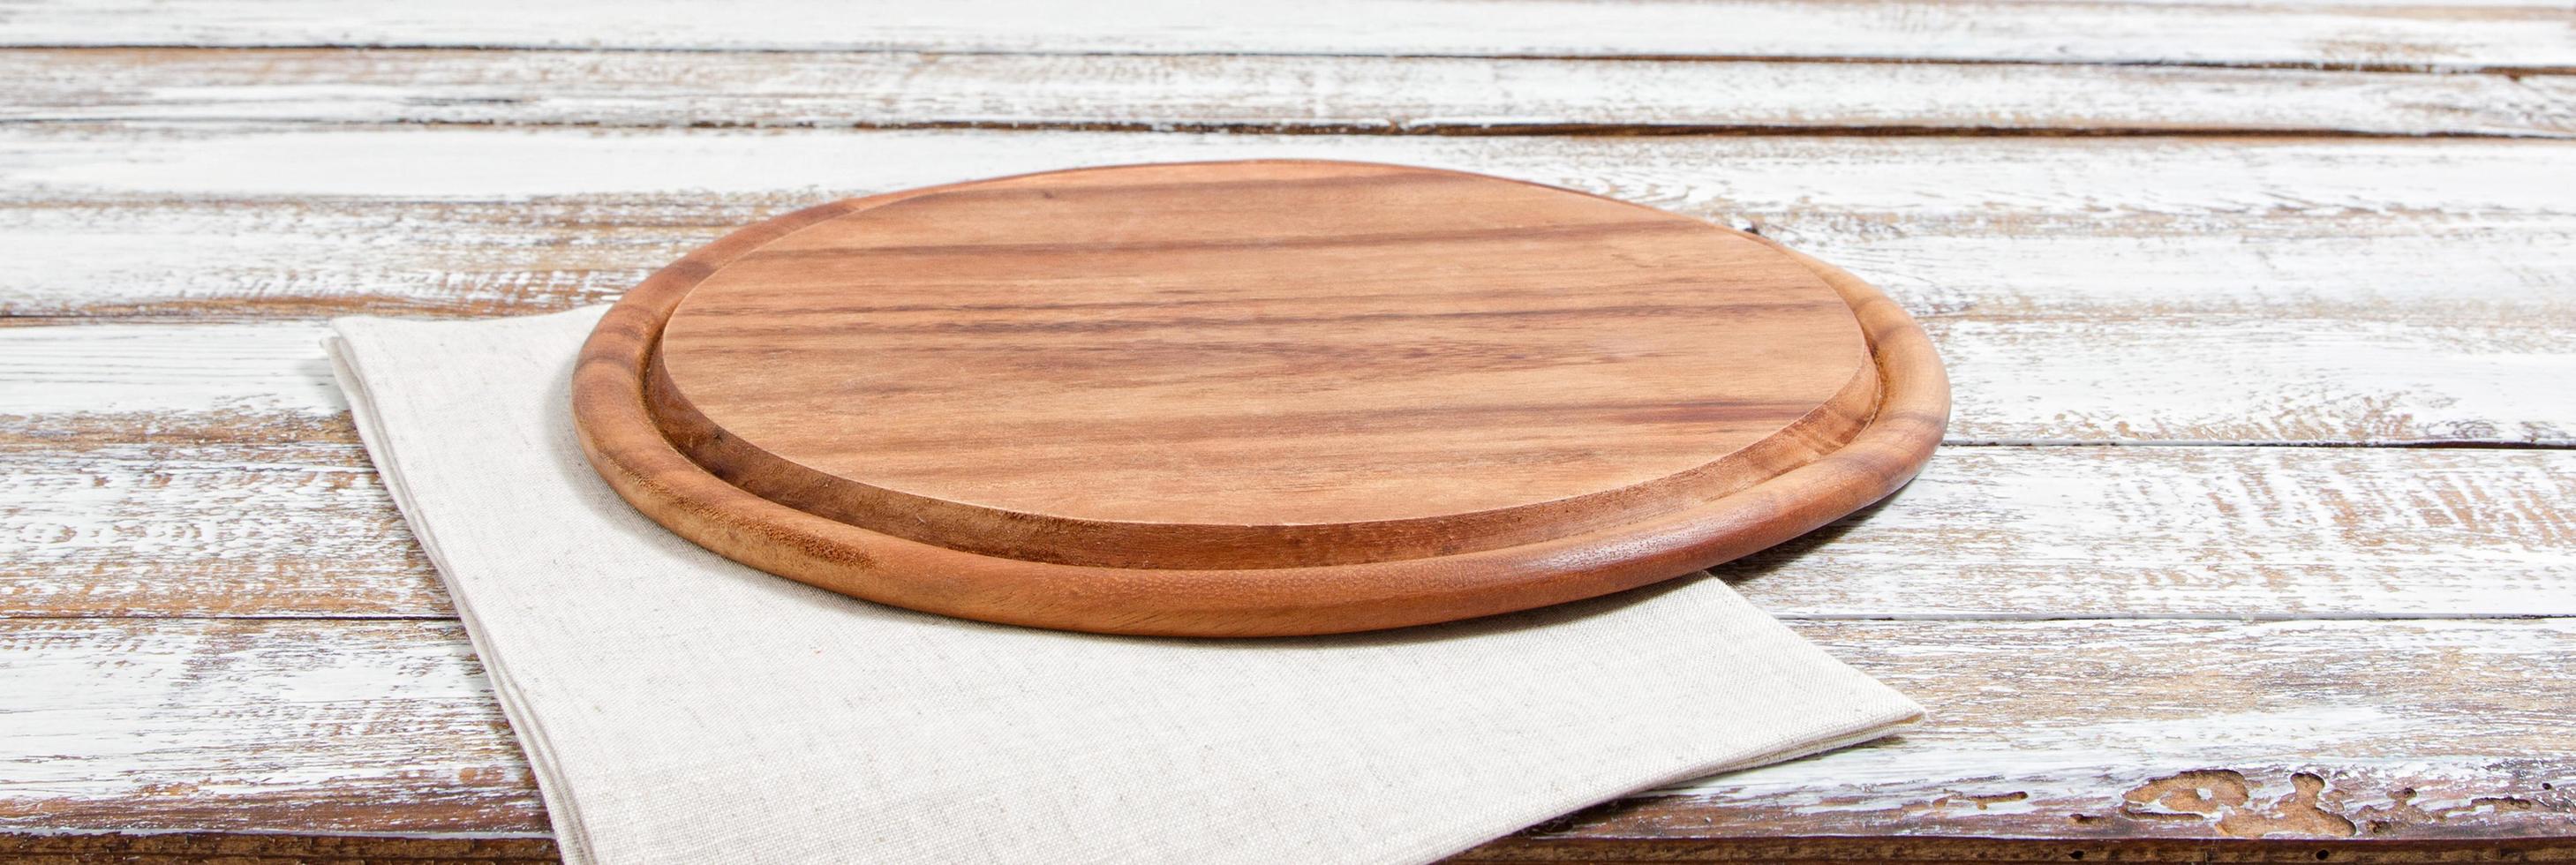
[[[2555,0],[2342,3],[1437,3],[783,0],[23,3],[21,46],[549,46],[1072,54],[1875,57],[2365,67],[2576,67]]]

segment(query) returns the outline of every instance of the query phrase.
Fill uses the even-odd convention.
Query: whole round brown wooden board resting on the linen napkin
[[[1587,193],[1363,162],[835,201],[654,273],[574,417],[644,515],[835,592],[1285,636],[1605,595],[1901,487],[1950,394],[1875,288]]]

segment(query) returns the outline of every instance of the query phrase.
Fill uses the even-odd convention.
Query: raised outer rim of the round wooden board
[[[1334,160],[1185,165],[1319,162]],[[1422,170],[1383,162],[1337,165]],[[770,502],[708,474],[665,438],[647,404],[652,358],[662,324],[701,281],[752,250],[835,216],[1012,178],[845,198],[783,214],[726,234],[649,275],[600,319],[574,368],[574,425],[592,466],[621,497],[665,528],[734,561],[853,597],[1066,631],[1298,636],[1494,615],[1705,569],[1795,538],[1904,487],[1929,458],[1947,425],[1947,376],[1929,337],[1904,309],[1839,268],[1767,237],[1734,232],[1814,270],[1850,304],[1878,371],[1875,412],[1842,448],[1806,466],[1703,505],[1564,538],[1321,566],[1126,569],[1002,559],[886,535]],[[1486,180],[1561,191],[1510,178]],[[1582,191],[1561,193],[1602,198]]]

